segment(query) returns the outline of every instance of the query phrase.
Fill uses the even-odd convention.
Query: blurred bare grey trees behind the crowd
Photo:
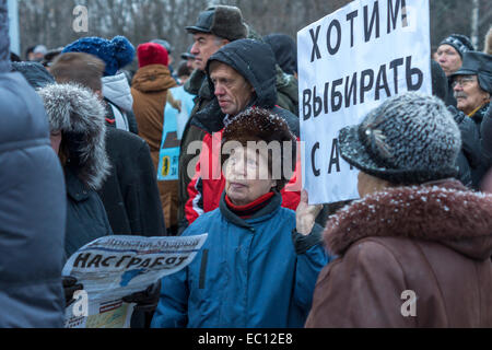
[[[127,36],[136,46],[165,38],[173,56],[191,44],[184,30],[195,23],[209,4],[233,4],[260,35],[285,33],[296,37],[298,30],[348,3],[348,0],[19,0],[21,49],[37,44],[48,48],[65,46],[83,36]],[[75,5],[89,9],[89,33],[72,30]],[[478,48],[492,24],[492,1],[430,0],[432,46],[452,33],[472,35],[472,7],[478,5]]]

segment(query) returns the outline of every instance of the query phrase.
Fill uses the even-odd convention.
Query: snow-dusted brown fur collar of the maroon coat
[[[356,200],[330,217],[324,233],[342,255],[365,237],[406,237],[444,244],[470,258],[492,254],[492,195],[454,179],[395,187]]]

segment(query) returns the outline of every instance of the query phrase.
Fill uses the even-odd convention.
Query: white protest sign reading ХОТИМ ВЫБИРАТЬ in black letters
[[[341,128],[388,97],[432,94],[427,0],[361,0],[297,33],[303,186],[309,203],[359,197]]]

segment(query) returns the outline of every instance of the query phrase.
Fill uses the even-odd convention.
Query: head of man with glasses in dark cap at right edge
[[[458,109],[480,126],[492,93],[492,56],[479,51],[465,52],[461,68],[449,78]]]

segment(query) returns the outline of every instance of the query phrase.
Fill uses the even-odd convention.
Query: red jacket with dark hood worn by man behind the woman
[[[282,117],[292,133],[298,138],[298,118],[289,110],[279,108],[277,103],[277,71],[276,61],[270,47],[267,44],[253,39],[235,40],[209,58],[207,71],[212,61],[220,61],[236,70],[255,89],[253,101],[246,107],[257,106],[270,109]],[[210,90],[213,91],[213,83],[208,74]],[[214,98],[203,110],[199,112],[191,124],[204,130],[200,160],[196,166],[194,178],[188,185],[189,199],[185,206],[186,221],[194,222],[203,212],[212,211],[219,207],[225,179],[221,174],[220,152],[213,144],[221,143],[222,130],[224,128],[225,115],[222,113],[219,102]],[[206,150],[206,152],[203,152]],[[201,171],[203,166],[203,171]],[[291,182],[282,189],[282,206],[295,210],[300,200],[297,188],[297,172]],[[181,225],[186,225],[185,222]]]

